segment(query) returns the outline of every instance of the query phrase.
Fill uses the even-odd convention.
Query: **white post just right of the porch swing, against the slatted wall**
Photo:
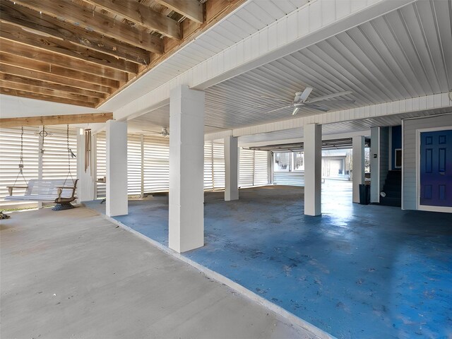
[[[92,137],[92,140],[95,136]],[[77,197],[78,203],[82,201],[91,201],[95,199],[95,158],[94,147],[95,143],[91,145],[90,166],[85,172],[85,130],[78,129],[77,131]]]

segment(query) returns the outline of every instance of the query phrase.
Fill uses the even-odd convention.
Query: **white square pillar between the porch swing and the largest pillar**
[[[109,217],[129,213],[127,203],[127,122],[107,121],[107,202]]]

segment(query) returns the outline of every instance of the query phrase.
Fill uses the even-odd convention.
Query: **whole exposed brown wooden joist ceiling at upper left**
[[[245,0],[0,0],[0,93],[98,107]]]

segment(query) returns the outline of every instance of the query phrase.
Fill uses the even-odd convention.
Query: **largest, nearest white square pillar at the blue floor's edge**
[[[182,85],[169,93],[169,248],[204,246],[205,95]]]

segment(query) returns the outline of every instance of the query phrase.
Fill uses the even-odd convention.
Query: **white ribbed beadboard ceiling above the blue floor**
[[[218,35],[200,38],[206,51],[191,54],[189,49],[182,54],[194,58],[194,62],[201,61],[203,56],[206,59],[215,53],[215,45],[221,48],[232,44],[234,37],[236,40],[242,39],[242,35],[249,34],[248,31],[251,32],[259,25],[269,23],[306,2],[252,1],[241,8],[237,15],[218,26],[215,31]],[[345,90],[353,91],[350,95],[335,99],[356,100],[354,104],[330,105],[332,111],[446,93],[452,89],[451,13],[452,1],[419,0],[214,85],[206,90],[206,133],[291,119],[292,108],[268,112],[279,106],[256,107],[273,103],[272,100],[261,98],[261,95],[275,95],[292,100],[295,92],[307,86],[314,88],[310,98]],[[254,19],[251,20],[251,17]],[[233,25],[239,25],[240,30],[233,30]],[[226,30],[230,31],[229,35],[225,33]],[[319,111],[304,109],[299,111],[298,116],[312,114],[319,114]],[[336,127],[324,126],[323,131],[361,131],[369,129],[371,125],[375,126],[376,122],[381,123],[381,126],[400,124],[400,117],[394,117],[393,122],[386,120],[376,118],[359,122],[347,121],[336,124]],[[161,126],[169,124],[169,107],[162,107],[130,122],[143,129],[158,131]],[[289,135],[290,133],[284,138],[289,138]]]

